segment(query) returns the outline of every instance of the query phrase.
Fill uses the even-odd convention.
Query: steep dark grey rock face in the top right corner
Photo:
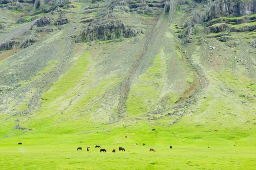
[[[217,17],[240,17],[256,13],[256,0],[212,0],[206,20]]]

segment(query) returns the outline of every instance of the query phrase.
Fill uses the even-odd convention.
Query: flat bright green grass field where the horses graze
[[[142,126],[138,126],[141,127]],[[1,139],[1,170],[255,170],[255,136],[177,132],[173,128],[107,128],[88,134],[24,135]],[[129,130],[128,130],[129,129]],[[118,135],[117,135],[118,134]],[[124,138],[127,135],[127,138]],[[188,136],[190,135],[190,136]],[[230,134],[231,135],[231,134]],[[18,145],[18,142],[22,145]],[[119,141],[119,144],[117,143]],[[81,143],[80,143],[81,142]],[[143,146],[143,142],[146,143]],[[132,146],[138,143],[138,146]],[[95,145],[107,150],[100,153]],[[173,149],[169,149],[169,145]],[[236,146],[234,146],[236,145]],[[89,152],[86,147],[91,146]],[[126,152],[112,153],[124,147]],[[82,147],[82,151],[77,151]],[[209,147],[209,148],[208,148]],[[149,149],[155,148],[156,153]]]

